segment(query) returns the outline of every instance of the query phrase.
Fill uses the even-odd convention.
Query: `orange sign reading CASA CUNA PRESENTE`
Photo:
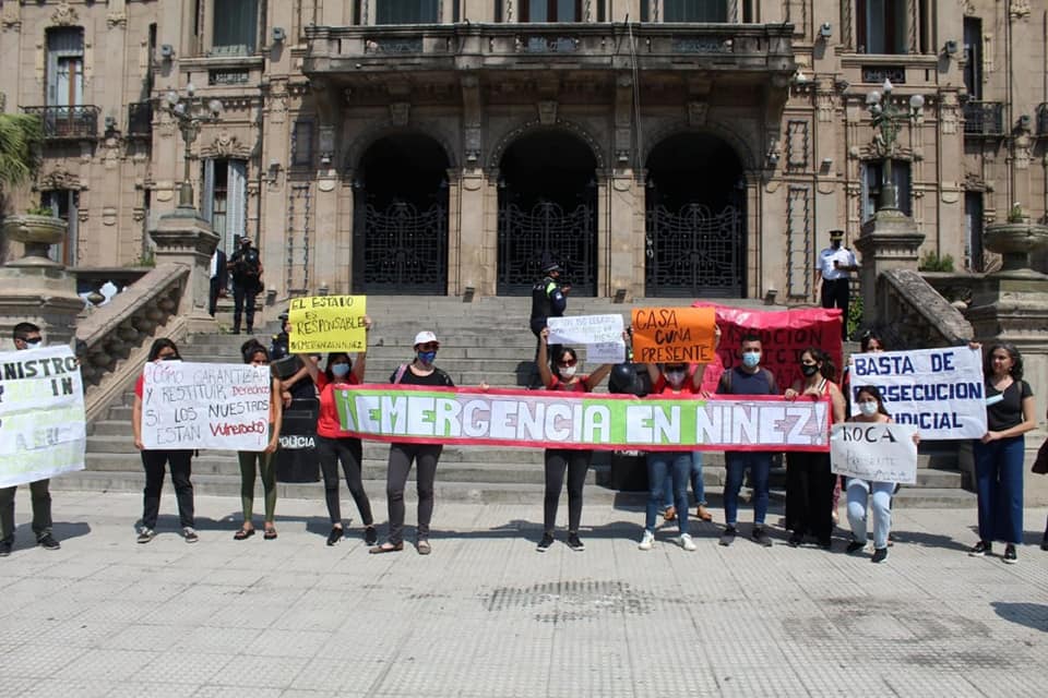
[[[710,363],[716,357],[712,308],[634,308],[633,360]]]

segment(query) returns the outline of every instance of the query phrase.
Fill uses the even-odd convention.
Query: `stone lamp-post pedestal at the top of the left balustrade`
[[[218,236],[195,208],[179,206],[164,214],[150,230],[156,243],[156,263],[175,263],[189,267],[189,281],[177,313],[187,317],[188,330],[214,332],[215,320],[207,314],[211,290],[211,255],[218,245]]]

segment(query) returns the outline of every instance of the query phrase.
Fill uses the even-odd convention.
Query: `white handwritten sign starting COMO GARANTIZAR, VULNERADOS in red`
[[[269,366],[245,363],[145,364],[142,443],[146,448],[265,450]]]

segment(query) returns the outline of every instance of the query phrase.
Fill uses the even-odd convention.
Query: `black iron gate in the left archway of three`
[[[448,208],[433,204],[419,212],[397,202],[385,210],[368,205],[362,220],[366,293],[444,294],[448,292]],[[355,275],[356,276],[356,275]],[[360,278],[360,277],[357,277]]]

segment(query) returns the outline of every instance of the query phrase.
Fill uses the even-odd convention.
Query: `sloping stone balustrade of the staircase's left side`
[[[91,421],[127,388],[145,362],[153,339],[180,340],[187,332],[190,268],[162,264],[80,321],[76,339]]]

